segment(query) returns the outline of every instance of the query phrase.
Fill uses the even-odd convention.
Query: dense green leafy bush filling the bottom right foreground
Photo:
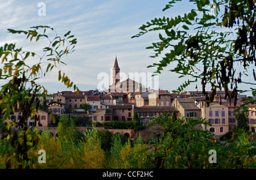
[[[129,168],[255,168],[255,143],[248,141],[245,134],[239,143],[226,145],[214,143],[212,132],[194,128],[197,124],[208,124],[203,119],[167,121],[160,116],[155,123],[168,128],[158,142],[131,153],[127,160]],[[216,151],[217,163],[209,163],[210,149]]]

